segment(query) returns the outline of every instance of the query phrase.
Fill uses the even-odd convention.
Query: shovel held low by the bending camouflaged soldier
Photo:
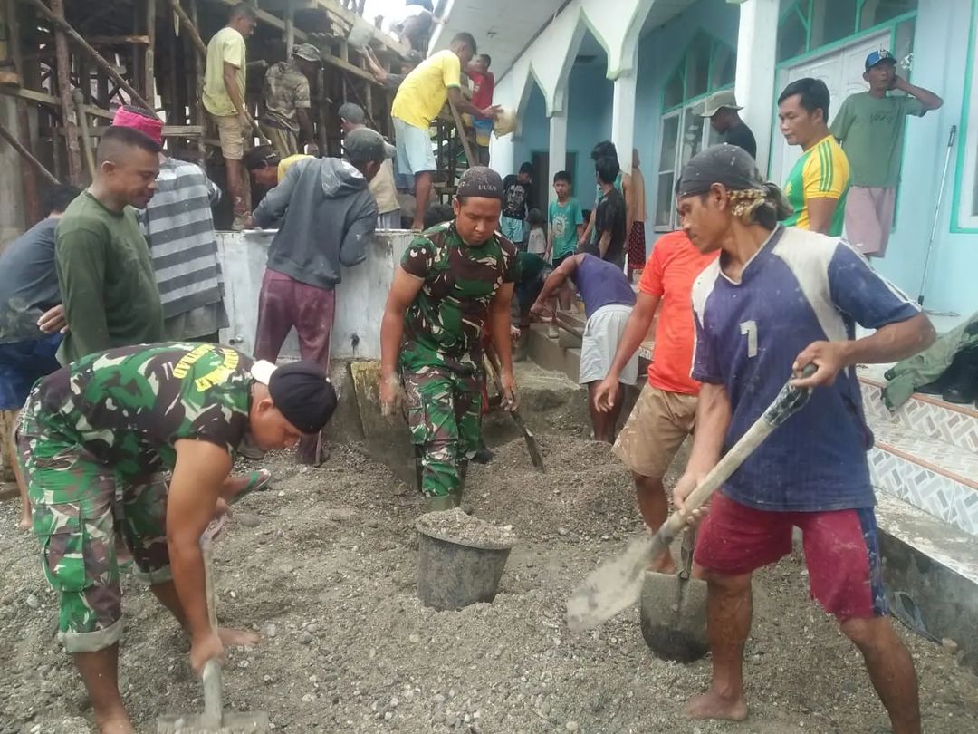
[[[207,593],[210,626],[217,629],[217,607],[211,567],[211,546],[220,526],[208,528],[200,536],[203,554],[203,579]],[[224,711],[221,696],[221,665],[209,660],[203,666],[203,713],[178,713],[156,718],[156,734],[268,734],[265,711]]]

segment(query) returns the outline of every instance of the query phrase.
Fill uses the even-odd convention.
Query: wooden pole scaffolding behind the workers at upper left
[[[170,155],[205,165],[221,182],[216,131],[201,102],[205,41],[227,23],[237,0],[0,0],[0,95],[14,98],[16,124],[0,137],[22,166],[24,225],[40,216],[38,197],[59,181],[86,184],[94,148],[120,105],[164,119]],[[393,93],[379,83],[351,31],[368,38],[380,63],[400,70],[409,49],[338,0],[250,0],[258,27],[248,40],[249,112],[258,117],[265,69],[288,59],[295,43],[320,49],[323,69],[311,81],[315,133],[324,154],[339,154],[336,111],[346,101],[391,134]],[[356,6],[354,6],[356,8]],[[3,144],[0,144],[3,145]]]

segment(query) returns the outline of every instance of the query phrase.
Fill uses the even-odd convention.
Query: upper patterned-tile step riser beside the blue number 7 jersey
[[[978,453],[978,410],[973,407],[952,405],[931,395],[914,395],[890,413],[883,404],[880,387],[865,380],[863,405],[870,423],[898,423],[923,436]]]

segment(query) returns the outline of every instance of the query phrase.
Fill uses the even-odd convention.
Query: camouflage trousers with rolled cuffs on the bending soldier
[[[59,594],[59,637],[69,653],[102,650],[122,636],[116,540],[149,583],[172,578],[161,474],[122,477],[59,436],[18,432],[41,567]]]

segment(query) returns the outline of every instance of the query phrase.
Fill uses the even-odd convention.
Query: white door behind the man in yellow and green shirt
[[[889,45],[889,32],[878,33],[860,39],[856,43],[841,49],[829,52],[817,59],[812,59],[799,64],[797,67],[782,69],[778,78],[778,94],[789,83],[796,79],[812,76],[822,79],[828,87],[830,98],[828,117],[829,120],[839,111],[842,101],[850,94],[865,92],[869,87],[863,80],[864,65],[866,57],[873,51],[886,48]],[[777,141],[773,146],[773,156],[771,161],[771,180],[783,184],[791,172],[791,167],[801,158],[801,148],[789,146],[784,142],[778,127],[778,111],[775,111],[775,129],[772,131],[771,139]]]

